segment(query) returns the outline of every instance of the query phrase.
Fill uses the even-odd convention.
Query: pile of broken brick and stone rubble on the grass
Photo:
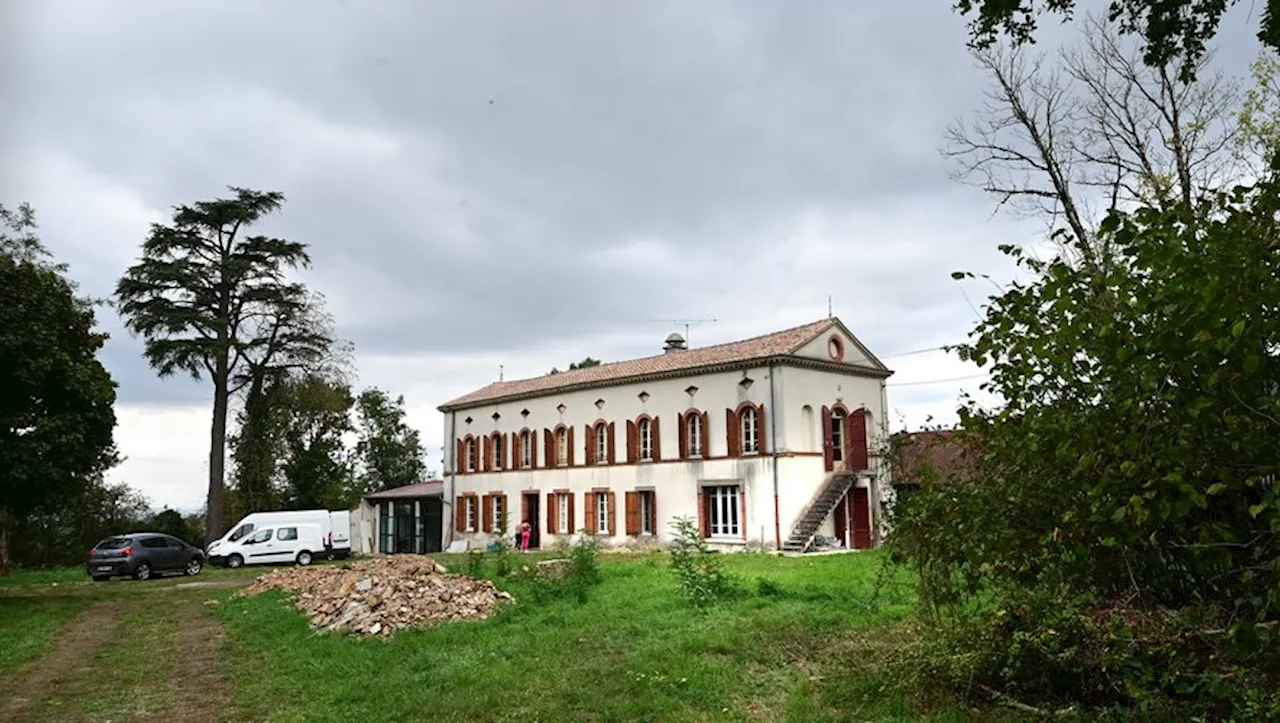
[[[443,621],[483,619],[511,595],[486,580],[448,575],[422,555],[390,555],[349,564],[284,567],[262,575],[238,595],[287,590],[311,626],[360,635]]]

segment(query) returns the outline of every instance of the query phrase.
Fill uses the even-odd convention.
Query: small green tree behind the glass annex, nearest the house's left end
[[[426,473],[419,431],[404,424],[404,397],[392,399],[381,389],[366,389],[356,399],[360,441],[360,486],[385,490],[419,482]]]

